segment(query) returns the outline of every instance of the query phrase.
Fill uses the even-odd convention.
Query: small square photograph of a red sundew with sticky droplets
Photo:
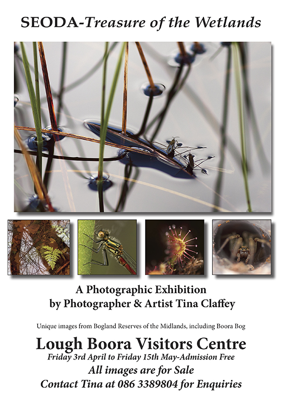
[[[204,220],[146,220],[146,275],[204,275]]]

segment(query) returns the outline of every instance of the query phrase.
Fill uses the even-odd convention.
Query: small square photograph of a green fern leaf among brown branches
[[[8,220],[8,275],[68,276],[69,220]]]

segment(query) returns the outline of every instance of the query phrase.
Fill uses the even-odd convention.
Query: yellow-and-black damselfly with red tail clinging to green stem
[[[94,248],[90,248],[87,245],[82,245],[85,246],[86,248],[92,250],[95,253],[98,253],[102,248],[103,250],[103,258],[104,258],[104,263],[99,262],[97,260],[91,260],[91,264],[99,264],[101,266],[108,266],[109,262],[108,262],[108,256],[107,256],[107,252],[111,253],[111,256],[114,256],[118,263],[121,264],[122,266],[124,266],[132,275],[136,275],[136,262],[135,260],[124,250],[123,246],[121,245],[121,243],[117,240],[115,240],[115,238],[111,238],[110,237],[110,233],[108,230],[101,230],[98,231],[98,233],[96,234],[98,241],[96,241],[95,239],[91,238],[89,235],[86,235],[88,238],[92,239],[93,242],[95,243],[99,243],[99,247],[98,249],[94,249]],[[85,263],[88,264],[88,263]]]

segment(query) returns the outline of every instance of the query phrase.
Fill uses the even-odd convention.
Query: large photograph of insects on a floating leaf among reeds
[[[14,104],[16,212],[271,212],[270,42],[19,42]]]

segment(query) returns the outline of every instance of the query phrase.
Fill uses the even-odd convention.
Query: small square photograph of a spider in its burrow
[[[271,220],[213,220],[213,275],[270,275]]]

